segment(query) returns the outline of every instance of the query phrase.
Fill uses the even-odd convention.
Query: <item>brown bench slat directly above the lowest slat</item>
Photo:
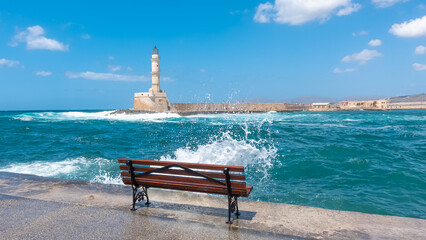
[[[121,172],[122,177],[131,177],[131,174],[129,172]],[[155,180],[164,180],[164,181],[172,181],[172,182],[179,182],[179,183],[199,183],[204,185],[212,185],[212,186],[220,186],[220,187],[226,187],[221,186],[218,183],[203,179],[203,178],[194,178],[194,177],[178,177],[178,176],[170,176],[170,175],[146,175],[143,177],[135,177],[136,180],[143,180],[143,179],[155,179]],[[225,183],[224,181],[222,181]],[[226,184],[226,183],[225,183]],[[231,181],[231,187],[232,188],[246,188],[245,182],[232,182]]]

